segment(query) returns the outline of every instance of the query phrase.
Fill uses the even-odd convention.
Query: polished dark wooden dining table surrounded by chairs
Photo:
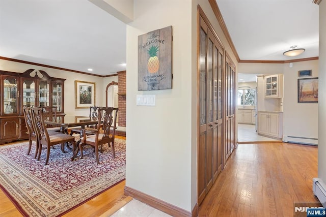
[[[50,125],[53,127],[60,127],[60,132],[66,134],[70,134],[69,128],[80,127],[81,128],[80,137],[82,137],[83,129],[85,128],[85,126],[96,125],[98,123],[98,118],[96,117],[90,118],[87,116],[65,115],[65,116],[57,117],[56,120],[53,121],[45,120],[44,122],[46,125]],[[78,145],[79,142],[80,140],[77,142],[75,150],[73,150],[74,154],[73,157],[71,158],[71,161],[73,161],[77,157],[79,151],[79,145]],[[69,144],[66,145],[69,149],[72,149],[71,147],[69,147]]]

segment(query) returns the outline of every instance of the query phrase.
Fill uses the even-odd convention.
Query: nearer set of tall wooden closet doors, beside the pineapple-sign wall
[[[223,164],[222,61],[223,47],[200,19],[199,29],[198,203],[205,198]]]

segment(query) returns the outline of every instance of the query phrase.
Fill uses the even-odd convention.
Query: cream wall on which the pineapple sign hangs
[[[138,91],[138,36],[169,25],[173,28],[173,88]],[[189,90],[195,79],[191,36],[191,1],[134,2],[134,21],[127,25],[126,186],[187,211],[196,201],[191,194],[196,181],[191,168],[194,135]],[[156,106],[136,106],[136,95],[155,95]]]

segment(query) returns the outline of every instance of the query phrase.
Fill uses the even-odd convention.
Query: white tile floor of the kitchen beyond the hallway
[[[238,141],[239,142],[257,142],[257,141],[278,141],[268,137],[260,136],[256,132],[255,125],[238,124]]]

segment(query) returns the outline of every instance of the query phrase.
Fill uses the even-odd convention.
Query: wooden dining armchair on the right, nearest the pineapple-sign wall
[[[100,107],[98,109],[98,124],[94,130],[83,129],[83,137],[80,138],[79,150],[80,159],[83,158],[83,146],[88,144],[94,146],[96,163],[99,164],[98,150],[102,153],[102,146],[108,144],[112,146],[112,156],[116,158],[114,149],[114,139],[117,123],[118,108]]]

